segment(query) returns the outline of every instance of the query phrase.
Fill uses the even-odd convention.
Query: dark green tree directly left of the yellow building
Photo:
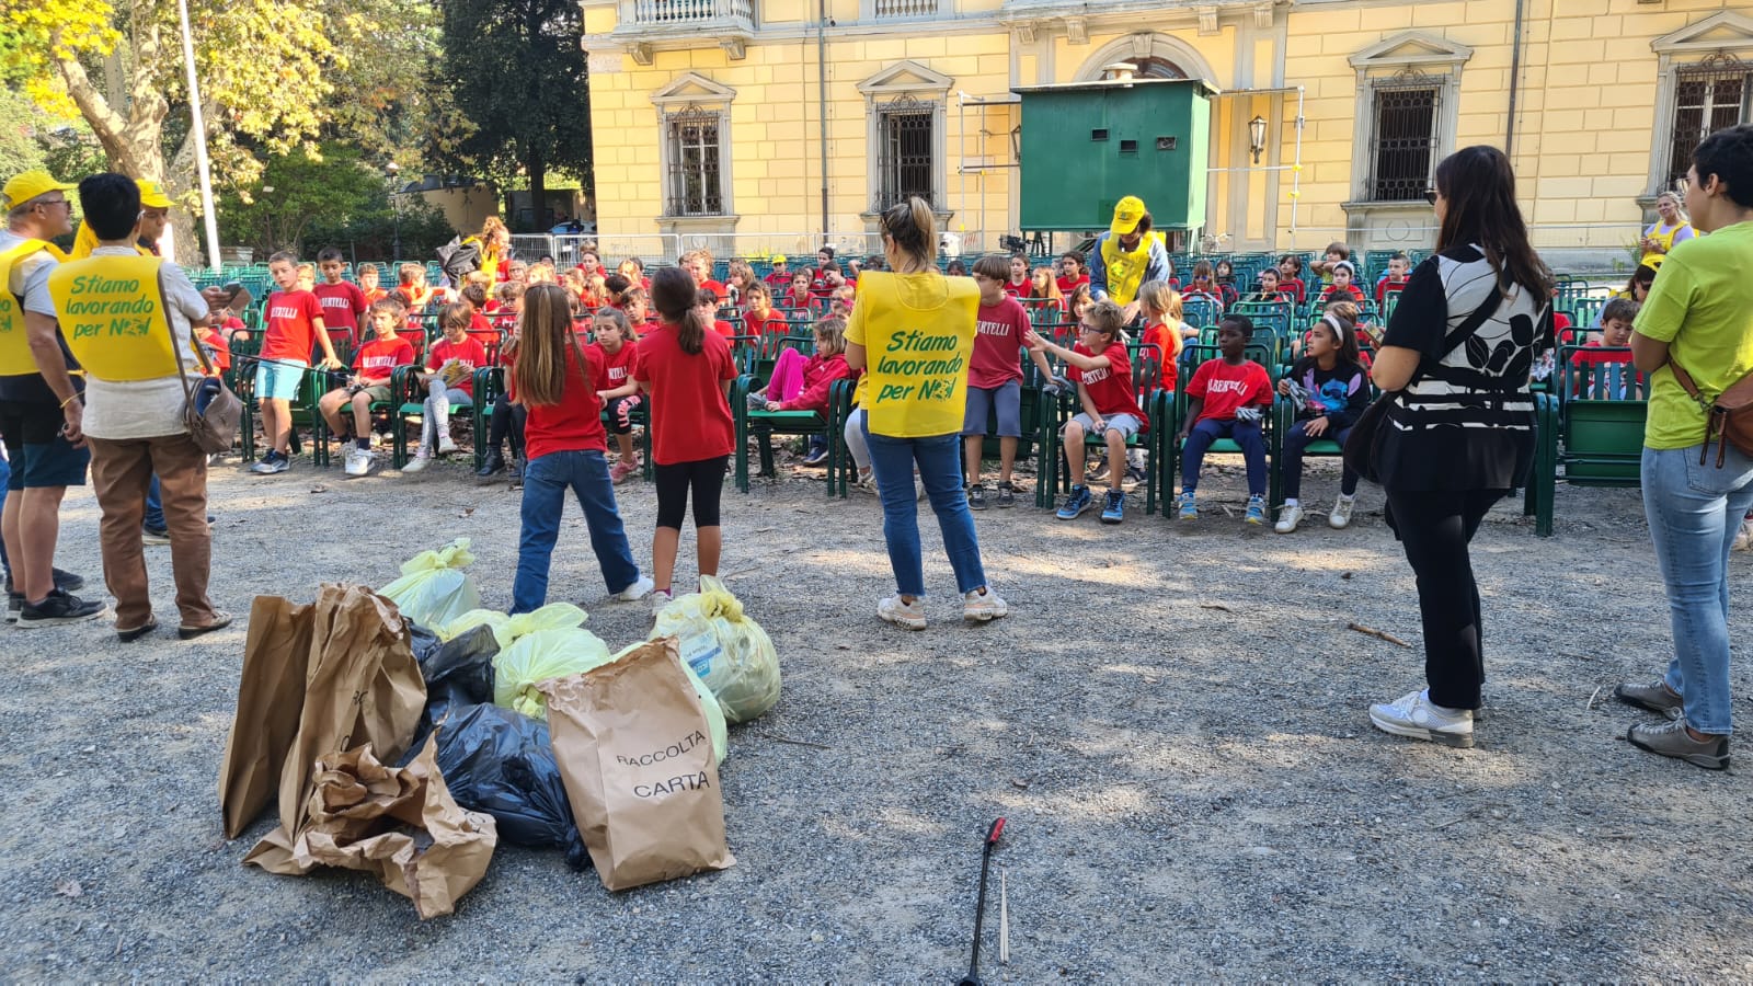
[[[435,72],[468,119],[440,151],[501,188],[522,174],[538,211],[549,172],[587,181],[591,93],[577,0],[440,2],[445,58]]]

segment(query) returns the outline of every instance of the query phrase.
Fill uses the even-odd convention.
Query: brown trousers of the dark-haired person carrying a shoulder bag
[[[170,530],[170,574],[177,582],[182,626],[209,626],[214,604],[207,598],[212,533],[207,530],[207,456],[188,435],[161,439],[89,439],[91,486],[103,509],[98,537],[103,546],[103,581],[116,597],[116,628],[133,630],[153,618],[145,581],[140,521],[145,491],[158,474]]]

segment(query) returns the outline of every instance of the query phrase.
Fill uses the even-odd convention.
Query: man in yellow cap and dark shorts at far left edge
[[[12,472],[0,537],[12,584],[7,612],[23,628],[95,619],[107,609],[56,588],[54,542],[61,498],[86,484],[84,405],[68,374],[77,368],[54,323],[49,274],[61,261],[47,240],[74,232],[67,193],[47,172],[14,175],[0,189],[0,440]]]

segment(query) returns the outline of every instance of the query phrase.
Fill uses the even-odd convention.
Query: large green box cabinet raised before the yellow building
[[[1027,232],[1108,226],[1145,200],[1157,230],[1204,226],[1213,89],[1197,79],[1026,86],[1022,223]]]

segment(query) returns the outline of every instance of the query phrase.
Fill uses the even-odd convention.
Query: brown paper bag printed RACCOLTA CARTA
[[[675,637],[545,681],[571,814],[608,890],[736,865],[706,714]]]

